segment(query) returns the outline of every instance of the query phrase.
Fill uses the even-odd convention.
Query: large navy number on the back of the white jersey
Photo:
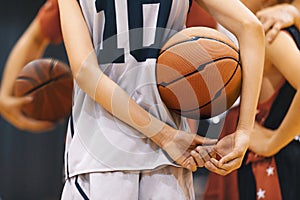
[[[146,4],[159,5],[154,44],[148,47],[143,46],[143,5]],[[104,11],[106,22],[103,33],[104,42],[99,52],[100,63],[124,63],[124,49],[117,46],[118,22],[116,20],[115,0],[96,0],[95,5],[97,12]],[[171,6],[172,0],[127,0],[130,54],[137,61],[142,62],[147,58],[157,57],[162,38],[160,28],[166,27]]]

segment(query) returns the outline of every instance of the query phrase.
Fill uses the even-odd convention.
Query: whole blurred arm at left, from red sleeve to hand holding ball
[[[53,123],[37,121],[24,116],[21,108],[24,104],[30,103],[31,98],[16,98],[12,93],[19,71],[28,62],[42,57],[50,43],[59,44],[61,41],[57,0],[47,0],[12,48],[3,72],[0,113],[8,122],[21,130],[40,132],[53,128]]]

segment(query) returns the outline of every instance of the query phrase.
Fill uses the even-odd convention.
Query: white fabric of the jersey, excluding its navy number
[[[100,2],[100,0],[98,1]],[[147,31],[147,34],[144,35],[150,38],[144,39],[144,45],[154,42],[153,34],[157,34],[157,29],[153,26],[158,23],[156,17],[159,13],[167,13],[165,6],[162,5],[168,1],[171,1],[172,4],[169,16],[166,18],[166,29],[158,31],[162,31],[163,34],[162,38],[157,39],[165,41],[185,27],[189,0],[157,0],[156,3],[149,3],[147,0],[141,10],[144,12],[143,23],[150,26],[143,27],[143,33]],[[101,0],[101,2],[103,3],[105,0]],[[124,50],[125,63],[103,64],[99,67],[152,115],[173,127],[188,130],[185,119],[181,120],[181,124],[175,124],[174,118],[160,99],[155,79],[156,58],[151,57],[144,62],[138,62],[130,52],[129,22],[124,20],[128,19],[130,12],[128,2],[131,2],[131,6],[136,6],[143,1],[114,0],[118,31],[117,45],[119,49]],[[80,0],[80,4],[92,35],[95,51],[98,54],[105,45],[102,41],[105,25],[107,25],[106,23],[113,24],[109,21],[107,13],[104,11],[97,13],[95,1]],[[107,0],[104,5],[111,6],[111,4],[112,0]],[[99,57],[99,61],[103,59],[103,57]],[[147,170],[162,165],[174,165],[157,145],[109,114],[76,84],[72,113],[74,136],[71,135],[69,127],[65,149],[66,175],[68,177],[82,173]]]

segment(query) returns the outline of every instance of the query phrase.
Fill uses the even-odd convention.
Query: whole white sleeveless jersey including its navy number
[[[160,45],[185,27],[189,0],[80,0],[80,5],[104,73],[153,116],[188,130],[185,119],[176,119],[162,103],[155,66]],[[108,113],[76,83],[65,151],[68,177],[174,165],[155,143]]]

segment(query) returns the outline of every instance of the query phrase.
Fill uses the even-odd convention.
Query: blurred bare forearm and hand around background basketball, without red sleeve
[[[53,123],[37,121],[21,112],[30,97],[13,96],[13,86],[19,71],[31,60],[39,58],[49,41],[40,35],[39,23],[34,20],[13,47],[5,64],[0,91],[0,112],[9,123],[21,130],[40,132],[53,128]]]

